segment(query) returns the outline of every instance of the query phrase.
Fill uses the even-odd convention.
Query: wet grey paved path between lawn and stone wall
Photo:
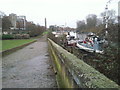
[[[46,36],[2,60],[3,88],[55,88]]]

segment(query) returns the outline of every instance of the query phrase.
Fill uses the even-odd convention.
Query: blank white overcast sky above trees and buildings
[[[104,11],[109,0],[0,0],[0,11],[6,15],[15,13],[25,15],[28,21],[44,25],[44,18],[49,25],[76,27],[78,20],[85,20],[88,14]],[[118,12],[118,1],[111,0],[109,9]]]

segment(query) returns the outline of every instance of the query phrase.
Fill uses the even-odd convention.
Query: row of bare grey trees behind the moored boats
[[[108,24],[115,24],[117,20],[117,16],[115,15],[115,10],[108,10]],[[95,29],[96,27],[104,27],[105,26],[105,15],[106,12],[102,12],[100,14],[100,18],[97,17],[95,14],[89,14],[86,16],[86,20],[79,20],[77,21],[77,32],[84,32],[90,29]]]

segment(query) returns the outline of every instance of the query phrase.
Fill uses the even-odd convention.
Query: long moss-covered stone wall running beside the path
[[[48,39],[59,87],[62,88],[120,88],[103,74]]]

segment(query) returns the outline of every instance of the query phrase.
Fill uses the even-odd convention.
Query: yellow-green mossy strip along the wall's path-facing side
[[[56,78],[57,78],[59,87],[60,88],[73,88],[73,85],[71,84],[69,77],[66,75],[65,67],[60,62],[58,56],[56,55],[54,49],[51,47],[50,43],[48,44],[50,47],[49,48],[50,54],[52,55],[54,66],[57,71]]]

